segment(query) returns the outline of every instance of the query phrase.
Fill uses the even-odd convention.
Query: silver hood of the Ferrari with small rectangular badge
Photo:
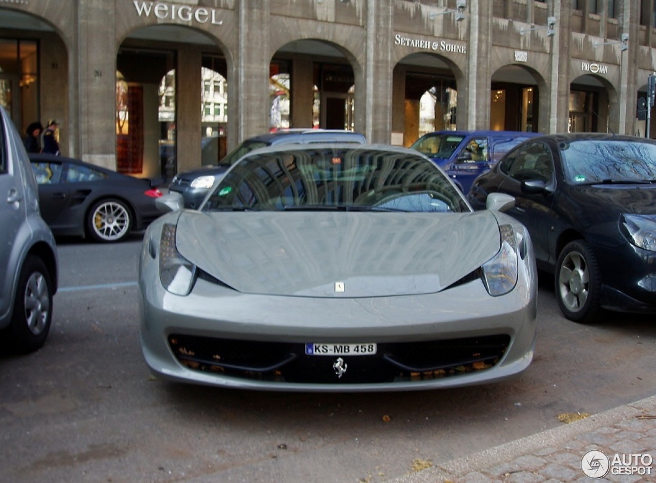
[[[239,292],[379,297],[439,292],[493,258],[500,237],[491,212],[190,210],[176,245]]]

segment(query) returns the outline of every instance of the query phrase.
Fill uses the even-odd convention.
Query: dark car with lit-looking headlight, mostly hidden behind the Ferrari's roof
[[[176,174],[169,191],[180,193],[185,208],[198,208],[205,195],[220,176],[237,159],[260,147],[279,144],[307,144],[323,142],[349,142],[363,144],[364,136],[358,132],[337,129],[288,129],[248,138],[230,151],[216,166],[203,166]],[[203,147],[205,149],[205,147]],[[204,154],[203,154],[204,155]]]

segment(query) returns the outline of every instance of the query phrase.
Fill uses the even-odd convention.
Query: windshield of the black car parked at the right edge
[[[656,144],[640,140],[580,140],[560,145],[570,184],[656,180]]]

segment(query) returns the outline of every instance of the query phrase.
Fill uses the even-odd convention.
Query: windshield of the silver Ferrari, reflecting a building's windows
[[[428,159],[374,147],[287,147],[241,159],[203,211],[344,210],[469,212]]]

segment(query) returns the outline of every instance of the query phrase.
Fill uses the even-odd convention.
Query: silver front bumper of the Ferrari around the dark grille
[[[529,255],[532,257],[532,253]],[[268,391],[437,389],[517,376],[529,366],[535,349],[537,278],[532,261],[520,263],[518,285],[500,297],[489,296],[480,280],[439,294],[333,299],[241,294],[203,279],[197,280],[188,296],[175,296],[161,286],[157,261],[144,250],[139,289],[144,358],[155,374],[174,381]],[[181,345],[178,338],[234,340],[248,347],[281,344],[298,348],[305,343],[322,342],[377,343],[379,347],[403,343],[447,346],[455,339],[499,336],[507,336],[509,342],[494,364],[485,362],[474,366],[476,370],[457,369],[448,374],[409,371],[392,380],[364,383],[335,376],[335,357],[306,358],[311,366],[309,377],[312,371],[316,372],[316,381],[308,381],[307,374],[292,381],[285,379],[284,372],[275,370],[254,375],[208,368],[211,364],[203,368],[193,361],[188,363],[179,352],[174,353],[183,345],[184,355],[194,353],[193,358],[199,352],[187,343]],[[359,364],[364,367],[371,362],[366,357],[344,360],[351,372],[357,372]]]

